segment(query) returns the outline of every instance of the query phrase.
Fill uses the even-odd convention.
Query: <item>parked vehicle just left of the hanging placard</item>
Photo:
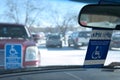
[[[76,31],[73,32],[68,38],[68,46],[74,46],[78,48],[88,44],[91,31]]]

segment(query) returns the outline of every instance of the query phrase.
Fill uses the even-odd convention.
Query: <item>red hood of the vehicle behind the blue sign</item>
[[[21,44],[24,47],[27,46],[35,46],[33,40],[25,40],[25,39],[1,39],[0,40],[0,49],[4,49],[6,44]]]

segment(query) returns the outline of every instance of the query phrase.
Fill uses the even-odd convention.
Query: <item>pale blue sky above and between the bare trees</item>
[[[19,18],[20,22],[24,24],[25,19],[25,8],[23,3],[27,0],[0,0],[0,22],[12,22],[12,20],[7,19],[6,16],[3,17],[3,15],[7,11],[6,1],[13,1],[16,4],[19,5],[21,12],[19,12]],[[54,22],[51,22],[51,13],[49,12],[50,9],[53,11],[56,11],[58,13],[58,18],[62,20],[63,15],[67,14],[68,12],[74,12],[76,14],[79,13],[80,9],[85,4],[81,4],[79,2],[72,2],[68,0],[31,0],[34,5],[43,6],[45,7],[44,10],[41,10],[40,15],[37,16],[37,21],[40,22],[43,26],[49,26],[54,24]],[[35,12],[30,13],[30,17],[34,17],[36,15]]]

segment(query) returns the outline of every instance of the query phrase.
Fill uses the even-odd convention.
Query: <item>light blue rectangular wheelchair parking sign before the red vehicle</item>
[[[22,45],[5,45],[5,69],[17,69],[22,67]]]

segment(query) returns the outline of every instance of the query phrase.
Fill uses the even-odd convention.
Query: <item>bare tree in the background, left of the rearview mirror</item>
[[[57,27],[56,31],[61,33],[63,36],[70,27],[77,24],[77,14],[72,12],[67,12],[61,16],[61,13],[54,10],[52,11],[51,19],[54,22],[55,27]]]

